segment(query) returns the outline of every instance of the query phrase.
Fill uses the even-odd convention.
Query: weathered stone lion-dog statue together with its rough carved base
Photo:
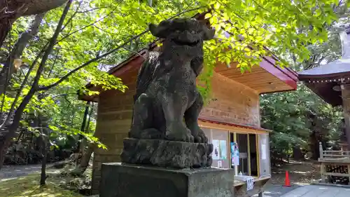
[[[151,53],[137,77],[129,138],[123,163],[172,168],[210,167],[213,145],[198,125],[203,100],[196,87],[202,71],[203,41],[214,30],[192,19],[150,25],[164,39],[160,53]]]

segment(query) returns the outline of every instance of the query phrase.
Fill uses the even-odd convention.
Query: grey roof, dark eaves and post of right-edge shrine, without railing
[[[342,57],[298,73],[298,79],[305,86],[333,107],[342,106],[344,126],[342,149],[350,148],[350,27],[339,34],[342,42]]]

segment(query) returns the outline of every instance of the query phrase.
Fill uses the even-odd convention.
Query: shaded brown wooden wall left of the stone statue
[[[123,139],[127,137],[132,122],[133,96],[137,70],[123,76],[128,87],[125,93],[119,90],[106,90],[99,95],[97,125],[95,136],[106,145],[108,150],[94,150],[92,166],[92,193],[99,193],[102,163],[120,162],[123,151]]]

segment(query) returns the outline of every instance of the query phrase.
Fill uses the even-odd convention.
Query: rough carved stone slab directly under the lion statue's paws
[[[213,144],[125,138],[123,163],[169,168],[210,167]]]

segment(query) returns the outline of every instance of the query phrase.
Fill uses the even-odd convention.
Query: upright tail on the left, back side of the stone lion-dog
[[[158,67],[158,56],[159,52],[150,51],[148,58],[145,60],[144,64],[141,65],[139,74],[137,75],[136,82],[136,94],[134,95],[134,102],[137,98],[146,91],[149,84],[151,83],[155,71]]]

